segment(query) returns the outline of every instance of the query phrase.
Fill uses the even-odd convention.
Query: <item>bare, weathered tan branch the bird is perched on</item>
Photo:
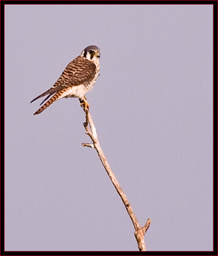
[[[108,176],[110,177],[113,185],[115,186],[117,193],[119,194],[121,200],[123,201],[125,208],[128,212],[128,215],[133,222],[133,225],[135,228],[134,234],[135,234],[135,237],[137,240],[138,248],[140,251],[146,251],[144,235],[145,235],[145,232],[147,231],[148,227],[150,226],[151,220],[148,219],[146,224],[143,227],[141,227],[139,225],[139,222],[133,212],[133,208],[130,206],[130,203],[128,202],[126,195],[124,194],[123,190],[121,189],[120,184],[117,181],[115,175],[113,174],[112,169],[111,169],[109,163],[107,162],[107,159],[102,151],[102,148],[100,146],[98,136],[96,133],[96,128],[95,128],[92,116],[89,112],[89,109],[83,108],[83,110],[85,112],[85,118],[86,118],[85,122],[83,123],[83,125],[85,127],[85,131],[86,131],[85,133],[90,136],[91,140],[93,141],[93,144],[82,143],[82,146],[92,147],[92,148],[95,148],[95,150],[97,151],[98,156],[99,156]]]

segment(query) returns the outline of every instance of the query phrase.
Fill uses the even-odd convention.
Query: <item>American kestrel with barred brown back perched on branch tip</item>
[[[36,99],[48,95],[41,102],[42,104],[54,94],[34,115],[40,114],[55,100],[68,97],[79,98],[81,105],[85,109],[89,109],[89,103],[84,96],[93,88],[99,75],[99,58],[100,49],[97,46],[86,47],[78,57],[68,64],[53,87],[31,101],[33,102]]]

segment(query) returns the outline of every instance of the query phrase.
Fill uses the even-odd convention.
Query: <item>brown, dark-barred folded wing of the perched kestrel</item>
[[[53,87],[31,100],[30,103],[49,94],[49,96],[46,98],[48,99],[51,95],[62,90],[63,88],[69,86],[79,86],[79,84],[88,82],[94,79],[95,74],[95,64],[84,57],[78,56],[68,64],[66,69],[64,69],[62,72],[61,76],[54,83]],[[45,100],[43,100],[41,104]]]

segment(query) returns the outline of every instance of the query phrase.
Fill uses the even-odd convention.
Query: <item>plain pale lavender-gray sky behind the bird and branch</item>
[[[147,250],[212,250],[212,5],[5,7],[5,249],[138,250],[78,99],[40,100],[89,45],[86,96]]]

